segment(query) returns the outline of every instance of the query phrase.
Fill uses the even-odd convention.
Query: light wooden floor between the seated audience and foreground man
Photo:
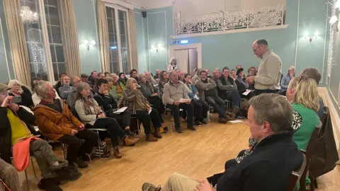
[[[215,116],[214,116],[215,117]],[[216,117],[212,121],[216,121]],[[169,122],[170,125],[170,122]],[[168,127],[170,127],[168,125]],[[182,127],[186,127],[183,123]],[[223,171],[225,161],[246,148],[250,136],[245,123],[221,125],[210,122],[196,132],[168,132],[158,142],[145,142],[145,135],[136,146],[122,146],[123,158],[111,156],[95,159],[82,177],[62,185],[63,190],[141,190],[142,183],[164,184],[171,173],[179,172],[193,178],[205,178]],[[62,157],[59,150],[57,155]],[[36,166],[36,163],[35,163]],[[38,166],[36,166],[38,169]],[[38,190],[31,166],[28,168],[30,190]],[[38,170],[40,174],[40,171]],[[20,173],[26,190],[24,173]],[[38,175],[40,178],[40,175]],[[340,167],[318,178],[319,191],[340,190]]]

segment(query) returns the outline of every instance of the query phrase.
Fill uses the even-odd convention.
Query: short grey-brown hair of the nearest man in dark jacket
[[[257,125],[266,121],[274,133],[293,131],[293,108],[285,97],[276,93],[263,93],[254,96],[248,103],[254,109]]]

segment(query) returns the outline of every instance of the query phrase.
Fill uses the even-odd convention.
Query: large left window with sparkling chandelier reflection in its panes
[[[67,68],[60,0],[21,0],[20,4],[31,77],[57,81]]]

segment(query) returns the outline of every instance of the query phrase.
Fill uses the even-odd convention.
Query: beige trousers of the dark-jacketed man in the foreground
[[[193,191],[199,183],[193,178],[174,173],[166,181],[161,191]]]

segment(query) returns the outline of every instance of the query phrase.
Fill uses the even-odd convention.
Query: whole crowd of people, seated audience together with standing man
[[[157,69],[155,75],[150,71],[138,74],[136,69],[129,76],[92,71],[89,76],[60,74],[55,86],[38,78],[33,79],[31,88],[16,80],[8,85],[0,83],[0,118],[5,124],[0,128],[6,132],[0,136],[0,168],[8,169],[6,175],[11,176],[11,181],[0,174],[1,180],[12,190],[21,190],[10,157],[13,156],[17,170],[26,168],[27,158],[18,158],[23,154],[17,150],[27,144],[25,157],[34,155],[42,171],[39,187],[61,190],[60,181],[79,178],[77,167],[89,166],[86,161],[94,157],[94,150],[106,145],[107,135],[115,158],[122,157],[119,139],[125,146],[134,146],[139,141],[136,136],[139,131],[132,130],[133,120],[142,123],[145,141],[154,142],[162,138],[160,129],[166,129],[164,110],[171,110],[178,133],[184,130],[181,117],[186,119],[187,129],[196,131],[209,122],[208,112],[213,110],[218,122],[223,124],[233,120],[232,116],[248,116],[249,148],[226,162],[225,173],[205,180],[176,173],[163,188],[145,183],[143,190],[251,190],[254,187],[282,190],[292,170],[302,163],[298,149],[306,148],[323,113],[323,101],[317,93],[321,75],[317,69],[307,68],[295,77],[295,69],[290,66],[287,75],[282,76],[280,58],[268,49],[266,40],[256,40],[253,51],[261,62],[258,68],[249,67],[247,74],[237,65],[235,69],[217,68],[212,76],[208,69],[199,68],[192,76],[179,70],[176,59],[171,58],[167,69]],[[13,103],[15,96],[21,96],[20,102]],[[249,103],[249,108],[244,109],[242,99]],[[232,110],[227,103],[232,103]],[[34,115],[21,106],[32,110]],[[18,127],[13,128],[14,125]],[[39,131],[31,128],[32,125],[37,125]],[[91,129],[107,132],[97,134]],[[38,137],[39,134],[42,136]],[[48,140],[67,146],[66,161],[52,153]],[[110,155],[110,151],[100,154]],[[281,178],[274,178],[277,174]],[[268,181],[266,185],[261,183],[263,176],[272,178],[269,188]]]

